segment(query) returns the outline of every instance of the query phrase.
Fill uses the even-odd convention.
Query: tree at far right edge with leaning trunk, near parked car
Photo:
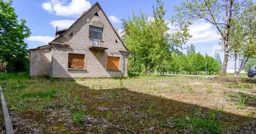
[[[247,61],[256,56],[256,5],[247,6],[243,12],[235,16],[230,29],[230,50],[234,58],[234,73],[236,76],[245,68]],[[236,70],[237,60],[241,60],[239,70]]]

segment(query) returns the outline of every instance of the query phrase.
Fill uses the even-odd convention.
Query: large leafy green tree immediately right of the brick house
[[[131,51],[131,68],[137,64],[143,66],[146,75],[150,70],[162,68],[162,62],[168,60],[170,54],[182,48],[182,45],[190,38],[187,25],[180,27],[178,31],[169,34],[167,26],[170,21],[164,19],[166,10],[162,1],[157,0],[156,8],[153,7],[153,17],[149,19],[142,12],[123,21],[123,41]],[[130,68],[130,69],[131,69]]]

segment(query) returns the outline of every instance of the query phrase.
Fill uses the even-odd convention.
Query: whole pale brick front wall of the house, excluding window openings
[[[94,14],[98,12],[99,16]],[[89,25],[103,28],[103,40],[100,46],[108,48],[102,52],[89,50],[92,40],[89,39]],[[127,56],[119,51],[127,51],[119,40],[115,29],[100,10],[98,5],[92,7],[86,15],[81,17],[67,33],[55,42],[68,44],[67,48],[53,45],[53,78],[110,78],[127,76]],[[69,36],[73,32],[73,37]],[[117,40],[118,43],[115,42]],[[68,54],[85,54],[86,69],[68,69]],[[108,56],[120,58],[120,70],[107,70]]]

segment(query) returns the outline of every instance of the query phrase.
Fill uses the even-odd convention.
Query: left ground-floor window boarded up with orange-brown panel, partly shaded
[[[69,54],[69,68],[86,68],[84,54]]]

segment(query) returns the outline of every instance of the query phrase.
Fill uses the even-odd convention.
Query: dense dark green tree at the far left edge
[[[25,38],[30,36],[26,21],[18,21],[18,15],[11,7],[12,1],[0,0],[0,60],[7,62],[9,71],[15,69],[15,62],[26,59],[28,44]]]

